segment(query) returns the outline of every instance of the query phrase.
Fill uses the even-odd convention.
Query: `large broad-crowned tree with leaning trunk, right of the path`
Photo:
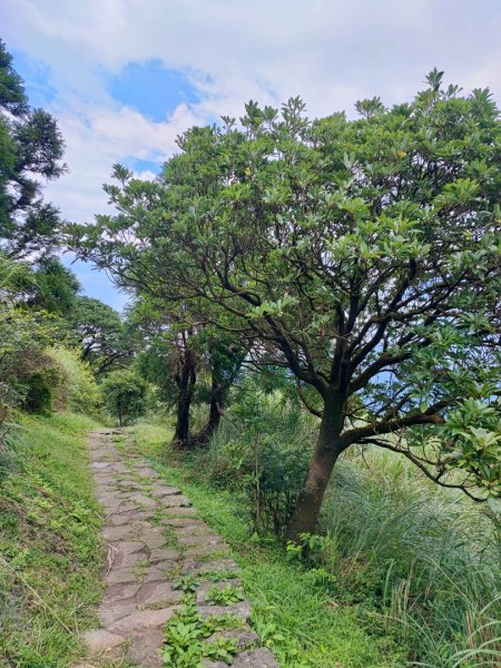
[[[315,391],[289,538],[314,528],[355,444],[501,493],[501,124],[488,90],[444,89],[436,70],[428,84],[391,109],[358,102],[356,120],[250,102],[239,127],[180,137],[161,181],[117,168],[118,214],[71,232],[122,281],[205,301]]]

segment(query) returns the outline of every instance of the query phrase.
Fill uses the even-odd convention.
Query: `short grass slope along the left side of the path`
[[[101,593],[88,418],[20,416],[0,483],[0,666],[67,668]]]

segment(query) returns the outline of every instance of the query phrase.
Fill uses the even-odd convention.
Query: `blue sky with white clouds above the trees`
[[[69,173],[46,196],[68,220],[109,213],[121,163],[154,178],[194,125],[299,95],[312,117],[407,100],[438,67],[501,100],[500,0],[1,0],[0,37],[30,102],[59,121]],[[73,258],[66,256],[66,263]],[[127,296],[91,265],[86,294]]]

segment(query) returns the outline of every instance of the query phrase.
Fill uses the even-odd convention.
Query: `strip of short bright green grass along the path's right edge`
[[[176,461],[161,425],[135,428],[139,451],[169,484],[181,488],[204,520],[215,528],[242,568],[253,603],[254,625],[264,642],[286,668],[390,668],[406,666],[400,647],[381,615],[360,605],[340,606],[316,576],[289,562],[273,540],[252,536],[242,497],[207,484],[196,455]]]

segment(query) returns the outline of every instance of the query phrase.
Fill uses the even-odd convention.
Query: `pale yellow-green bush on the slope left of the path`
[[[77,351],[63,346],[51,347],[49,355],[58,364],[63,376],[56,406],[97,416],[101,392],[90,371],[90,365],[80,360]]]

